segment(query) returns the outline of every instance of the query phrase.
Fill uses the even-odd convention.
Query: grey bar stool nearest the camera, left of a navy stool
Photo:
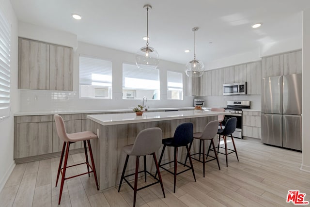
[[[161,146],[162,137],[163,137],[162,130],[158,127],[143,129],[137,135],[134,144],[126,145],[123,147],[123,151],[127,156],[126,156],[124,169],[123,169],[123,173],[121,176],[121,181],[120,181],[118,191],[121,190],[122,182],[123,182],[123,180],[125,180],[126,183],[128,183],[128,185],[134,190],[134,207],[136,206],[137,191],[140,191],[144,188],[155,185],[156,183],[160,183],[161,190],[163,191],[164,197],[166,197],[165,191],[164,191],[164,186],[163,186],[163,181],[161,179],[161,175],[159,172],[159,167],[158,167],[158,163],[157,163],[157,159],[156,159],[156,155],[155,155],[155,152]],[[148,172],[146,170],[146,155],[151,155],[151,154],[153,155],[153,159],[154,159],[155,166],[156,166],[156,174],[158,173],[159,179],[157,179],[156,176],[152,175],[150,172]],[[126,166],[128,163],[128,159],[129,159],[129,155],[136,156],[136,171],[133,174],[124,176],[125,171],[126,171]],[[143,156],[143,159],[144,159],[144,170],[139,172],[139,158],[140,158],[140,156]],[[157,181],[138,189],[138,174],[142,173],[142,172],[144,172],[145,182],[146,182],[146,173],[148,173],[149,175],[154,177]],[[134,187],[126,179],[126,177],[131,176],[131,175],[135,175]]]

